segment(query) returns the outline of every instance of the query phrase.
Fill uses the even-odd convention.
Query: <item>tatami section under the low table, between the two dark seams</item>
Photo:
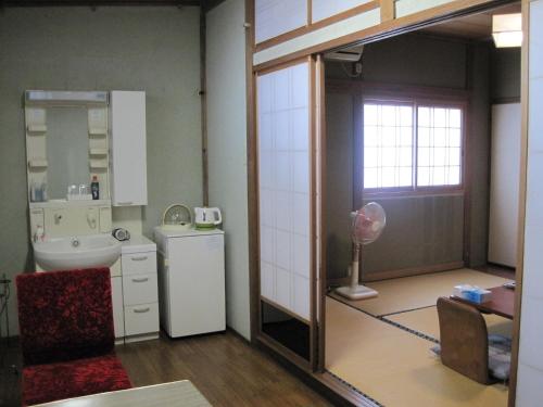
[[[489,333],[512,338],[513,321],[497,315],[483,315]],[[440,323],[435,306],[390,315],[384,320],[424,333],[439,341]]]

